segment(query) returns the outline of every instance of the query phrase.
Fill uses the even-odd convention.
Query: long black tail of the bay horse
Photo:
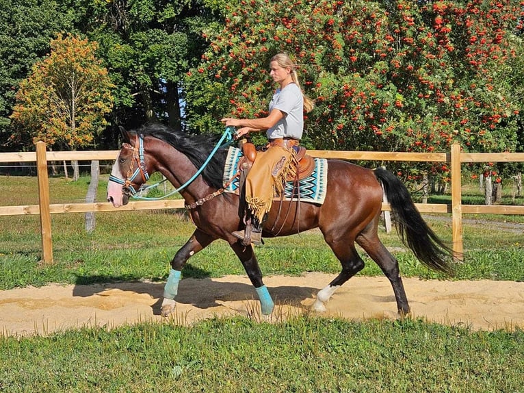
[[[402,242],[425,266],[451,274],[453,269],[450,262],[453,260],[453,250],[446,246],[425,223],[404,183],[383,168],[377,168],[375,176],[384,187]]]

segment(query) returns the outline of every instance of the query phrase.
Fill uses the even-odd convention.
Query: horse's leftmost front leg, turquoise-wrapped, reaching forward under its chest
[[[163,288],[161,316],[168,316],[174,312],[176,306],[174,297],[179,292],[180,276],[187,259],[198,253],[198,251],[205,249],[213,240],[216,240],[216,238],[197,228],[191,238],[176,252],[171,261],[168,282],[166,282],[166,286]]]

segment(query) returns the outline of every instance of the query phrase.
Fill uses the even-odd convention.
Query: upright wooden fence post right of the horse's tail
[[[460,179],[460,144],[451,145],[451,220],[453,250],[455,256],[462,260],[464,244],[462,243],[462,181]]]

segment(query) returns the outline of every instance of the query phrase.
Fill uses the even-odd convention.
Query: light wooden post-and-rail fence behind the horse
[[[380,151],[320,151],[311,150],[314,157],[341,160],[447,162],[451,166],[451,204],[415,203],[421,213],[451,214],[453,249],[462,254],[462,214],[524,214],[524,206],[514,205],[462,205],[461,164],[464,162],[524,162],[524,153],[461,153],[460,145],[453,144],[449,153],[389,153]],[[0,206],[0,216],[40,214],[42,259],[53,262],[51,240],[51,214],[116,211],[111,203],[49,203],[49,161],[116,160],[118,151],[46,151],[44,142],[36,144],[32,153],[0,153],[0,162],[36,162],[38,172],[38,205]],[[181,209],[183,200],[133,201],[118,210]],[[388,203],[382,210],[389,211]]]

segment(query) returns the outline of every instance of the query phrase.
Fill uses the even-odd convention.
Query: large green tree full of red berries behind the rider
[[[419,5],[420,4],[420,5]],[[242,1],[185,82],[192,127],[264,116],[272,55],[300,64],[318,149],[512,151],[523,69],[512,1]],[[519,90],[519,91],[520,91]],[[435,165],[435,173],[447,168]]]

